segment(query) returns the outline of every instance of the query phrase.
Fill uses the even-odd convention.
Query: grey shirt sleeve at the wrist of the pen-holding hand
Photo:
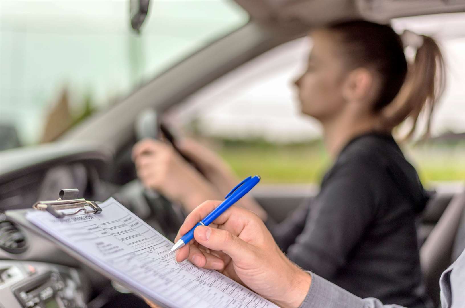
[[[375,298],[361,299],[335,284],[312,274],[312,284],[300,308],[402,308],[383,305]]]

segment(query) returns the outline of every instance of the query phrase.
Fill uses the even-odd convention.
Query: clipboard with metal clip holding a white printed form
[[[26,227],[29,230],[31,230],[33,233],[39,234],[40,236],[45,237],[46,239],[51,241],[54,245],[59,247],[62,251],[64,251],[66,254],[80,261],[83,265],[86,265],[87,267],[92,268],[96,272],[100,273],[101,275],[105,276],[106,278],[112,281],[116,281],[121,286],[129,290],[133,290],[134,294],[143,296],[149,299],[150,301],[153,301],[154,303],[158,304],[160,307],[166,307],[166,308],[193,307],[194,303],[196,305],[195,307],[206,307],[206,306],[217,307],[216,305],[212,306],[212,303],[207,301],[207,298],[205,297],[206,295],[216,296],[216,299],[219,299],[219,301],[221,302],[221,305],[224,307],[247,307],[247,308],[248,307],[267,307],[267,308],[274,307],[276,308],[277,307],[272,302],[262,298],[261,296],[255,294],[253,291],[247,289],[244,286],[241,286],[239,283],[220,274],[219,272],[198,268],[189,261],[182,261],[182,262],[175,261],[173,254],[166,253],[167,251],[170,250],[173,243],[167,240],[166,237],[164,237],[162,234],[159,234],[159,232],[151,228],[149,225],[146,224],[146,222],[141,220],[139,217],[137,217],[135,214],[130,212],[127,208],[125,208],[119,202],[115,201],[113,198],[110,198],[107,201],[100,203],[99,205],[97,202],[87,201],[85,199],[76,199],[75,197],[77,196],[77,193],[79,193],[77,189],[64,190],[60,192],[60,198],[59,200],[57,200],[59,202],[39,201],[34,204],[33,211],[45,211],[45,212],[48,212],[48,214],[37,213],[37,215],[34,214],[32,217],[27,218],[26,216],[30,216],[28,213],[31,213],[32,210],[25,210],[25,209],[10,210],[10,211],[7,211],[5,214],[7,214],[8,217],[10,217],[13,221],[19,223],[21,226]],[[115,208],[112,208],[112,211],[110,212],[111,214],[105,214],[106,213],[105,210],[107,208],[111,208],[112,206],[114,206]],[[123,217],[120,219],[120,221],[123,221],[124,217],[129,217],[133,219],[132,221],[133,223],[139,222],[141,224],[140,227],[146,227],[148,229],[148,231],[146,232],[150,232],[153,234],[152,237],[147,236],[146,240],[144,240],[144,243],[140,242],[136,244],[136,245],[140,245],[137,248],[139,250],[136,250],[133,252],[133,250],[128,249],[127,251],[122,252],[122,255],[114,256],[114,258],[116,259],[122,257],[123,259],[120,259],[120,260],[126,262],[124,263],[124,265],[122,265],[121,263],[119,266],[109,265],[112,263],[106,263],[107,261],[105,258],[102,259],[101,257],[98,257],[97,255],[92,253],[92,251],[96,249],[96,247],[92,245],[98,244],[99,242],[102,241],[101,239],[103,238],[106,239],[107,237],[103,237],[103,238],[100,237],[97,239],[94,237],[89,240],[81,239],[80,241],[83,242],[83,244],[80,245],[80,244],[77,244],[79,240],[76,241],[73,239],[73,241],[70,241],[69,238],[66,239],[66,237],[67,236],[69,237],[69,235],[61,233],[61,232],[66,233],[66,232],[79,229],[78,233],[85,234],[85,237],[87,238],[87,235],[90,234],[91,232],[88,231],[89,229],[86,229],[88,228],[86,226],[93,227],[94,225],[98,225],[98,224],[100,224],[99,226],[102,226],[102,225],[106,226],[109,223],[113,224],[114,223],[113,221],[115,217],[117,216],[116,213],[118,212],[120,214],[123,214],[120,216],[120,217]],[[53,217],[49,217],[47,215],[51,215]],[[73,215],[77,215],[77,216],[73,217]],[[35,221],[34,223],[30,221],[31,218],[33,218],[33,221]],[[55,224],[55,226],[59,225],[60,228],[57,227],[54,232],[50,231],[52,227],[46,227],[46,229],[48,228],[48,231],[46,231],[46,229],[42,230],[41,228],[45,228],[44,226],[47,226],[48,224],[48,222],[46,221],[54,221],[53,223],[52,222],[50,223]],[[70,223],[69,221],[73,221],[71,225],[68,224]],[[110,221],[110,222],[107,222],[107,221]],[[73,224],[75,223],[79,223],[79,226],[78,227],[73,226]],[[125,222],[123,222],[123,225],[124,224]],[[61,228],[61,226],[64,226],[66,228]],[[137,227],[137,228],[140,228],[140,227]],[[118,228],[118,227],[116,226],[116,227],[109,227],[109,228],[113,228],[114,230],[114,228]],[[49,232],[52,232],[52,233],[50,233],[49,235]],[[72,236],[75,236],[76,234],[73,232],[71,234]],[[146,233],[142,233],[142,234],[146,234]],[[110,236],[110,235],[112,234],[108,234],[105,236]],[[120,234],[118,234],[118,236],[119,235]],[[113,235],[113,236],[116,237],[116,235]],[[106,240],[108,243],[111,242],[112,236],[110,236],[109,238],[110,240]],[[124,238],[123,240],[125,239],[126,238]],[[133,241],[132,239],[130,240]],[[115,240],[113,239],[113,241]],[[159,241],[158,244],[157,244],[157,241]],[[159,244],[161,245],[157,246]],[[155,247],[158,247],[158,248],[155,248]],[[90,250],[86,250],[86,249],[90,249]],[[134,253],[139,253],[146,249],[159,249],[159,252],[157,252],[157,250],[149,250],[155,253],[155,254],[152,254],[152,258],[155,258],[154,261],[160,260],[160,259],[163,259],[165,261],[160,261],[163,264],[160,263],[161,265],[159,265],[158,267],[157,265],[153,265],[152,268],[150,268],[150,266],[146,268],[145,265],[147,263],[145,263],[145,261],[142,262],[144,263],[143,264],[144,266],[143,267],[141,266],[140,268],[138,267],[136,269],[139,270],[139,274],[142,273],[142,275],[144,275],[145,278],[141,277],[139,280],[139,278],[137,279],[134,278],[137,275],[128,276],[128,275],[132,275],[132,273],[130,272],[130,268],[133,267],[134,263],[131,263],[131,262],[137,263],[140,260],[135,255],[131,257],[132,261],[130,258],[128,259],[128,257],[126,256],[128,254],[133,255]],[[145,255],[145,253],[143,254],[144,255],[140,254],[140,256],[142,257],[147,256]],[[151,262],[148,262],[148,263],[151,263]],[[136,267],[137,266],[138,265],[136,264]],[[166,268],[166,266],[168,268]],[[127,268],[129,268],[129,270]],[[173,276],[172,274],[168,275],[167,273],[161,272],[162,270],[165,270],[165,269],[169,269],[168,273],[173,273]],[[178,273],[178,274],[175,274],[175,273]],[[164,277],[165,275],[166,277]],[[176,280],[176,275],[182,276],[182,279],[183,279],[182,284],[179,284],[181,280]],[[189,279],[184,279],[186,275],[192,276],[193,278],[191,277]],[[142,282],[147,277],[149,277],[150,280],[147,282]],[[187,283],[185,284],[186,281]],[[166,283],[166,285],[164,285],[164,283]],[[178,288],[180,292],[186,293],[186,296],[184,298],[179,298],[177,294],[176,296],[174,296],[171,292],[173,286],[176,286],[176,288]],[[226,286],[226,288],[224,288],[224,286]],[[230,293],[228,293],[230,292],[230,288],[232,288],[232,290],[234,291],[233,292],[234,295],[231,295]],[[202,290],[203,291],[207,290],[207,293],[206,294],[204,293],[204,295],[201,295],[200,293],[202,292]],[[169,292],[171,292],[171,294]],[[208,292],[211,292],[211,293],[208,293]],[[159,297],[159,300],[157,299],[157,297]],[[191,299],[194,300],[192,304],[190,302]],[[166,303],[163,303],[160,301],[165,301]]]

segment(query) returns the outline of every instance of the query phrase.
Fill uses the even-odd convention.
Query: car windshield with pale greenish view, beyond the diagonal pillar
[[[248,21],[233,1],[0,2],[0,150],[56,139],[95,110]]]

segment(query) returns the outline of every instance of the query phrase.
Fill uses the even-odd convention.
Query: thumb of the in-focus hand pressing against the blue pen
[[[250,256],[253,251],[250,244],[222,229],[199,226],[194,230],[194,238],[206,248],[223,251],[233,260]]]

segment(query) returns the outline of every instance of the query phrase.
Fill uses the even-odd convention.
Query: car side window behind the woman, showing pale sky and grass
[[[465,178],[465,14],[399,18],[401,33],[432,34],[443,47],[448,85],[432,123],[432,139],[404,144],[424,182]],[[299,112],[292,82],[306,65],[311,41],[272,49],[203,88],[167,114],[181,128],[218,150],[241,176],[264,182],[318,182],[330,161],[321,128]]]

